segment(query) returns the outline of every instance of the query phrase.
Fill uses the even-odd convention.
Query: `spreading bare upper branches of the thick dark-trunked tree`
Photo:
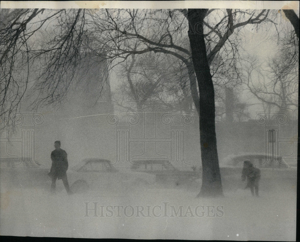
[[[217,12],[217,13],[216,13]],[[179,14],[182,13],[182,14]],[[212,14],[213,13],[213,14]],[[206,16],[220,15],[221,20],[214,26],[206,23],[208,33],[205,39],[208,43],[208,62],[211,65],[214,57],[219,53],[235,29],[247,24],[259,24],[268,19],[267,10],[240,11],[211,9]],[[249,18],[245,17],[248,15]],[[187,10],[149,10],[149,9],[119,9],[98,11],[91,13],[93,20],[95,44],[94,51],[106,49],[107,57],[125,61],[132,54],[147,52],[173,55],[184,63],[190,81],[190,92],[194,105],[199,114],[199,94],[196,76],[191,62],[191,52],[187,40]],[[213,17],[211,17],[213,18]],[[150,21],[151,20],[151,21]],[[244,20],[244,21],[243,21]],[[213,20],[216,22],[217,20]],[[147,29],[145,29],[147,26]],[[230,28],[229,28],[230,27]],[[149,34],[151,29],[151,35]],[[98,42],[98,44],[97,44]]]

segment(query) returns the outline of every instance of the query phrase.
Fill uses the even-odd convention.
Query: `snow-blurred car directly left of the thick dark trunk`
[[[182,185],[201,177],[201,171],[193,168],[176,168],[169,160],[147,159],[132,162],[131,171],[154,174],[157,183],[173,186]]]

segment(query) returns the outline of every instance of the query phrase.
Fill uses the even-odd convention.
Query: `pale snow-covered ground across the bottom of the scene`
[[[296,234],[296,172],[291,174],[288,179],[278,179],[275,175],[262,177],[258,198],[252,197],[250,190],[242,189],[244,183],[232,184],[230,177],[226,177],[224,197],[212,199],[196,198],[201,180],[177,189],[163,185],[135,187],[125,182],[113,192],[99,187],[98,192],[70,196],[59,180],[56,194],[51,195],[47,186],[10,186],[8,180],[13,177],[8,177],[2,169],[0,233],[38,237],[292,241]],[[47,185],[50,183],[49,179]],[[96,211],[91,209],[94,206]]]

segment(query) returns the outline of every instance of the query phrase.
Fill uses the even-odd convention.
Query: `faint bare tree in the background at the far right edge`
[[[298,100],[298,38],[292,32],[280,41],[275,57],[264,68],[255,57],[249,58],[246,76],[247,89],[268,111],[281,110],[282,104],[297,105]],[[277,56],[280,56],[278,58]]]

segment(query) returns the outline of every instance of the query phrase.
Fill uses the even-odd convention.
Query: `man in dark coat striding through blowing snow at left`
[[[49,177],[52,179],[51,192],[55,192],[56,179],[62,180],[68,194],[71,194],[70,186],[67,179],[68,159],[67,152],[60,148],[60,141],[54,142],[55,150],[51,152],[52,165],[49,172]]]

